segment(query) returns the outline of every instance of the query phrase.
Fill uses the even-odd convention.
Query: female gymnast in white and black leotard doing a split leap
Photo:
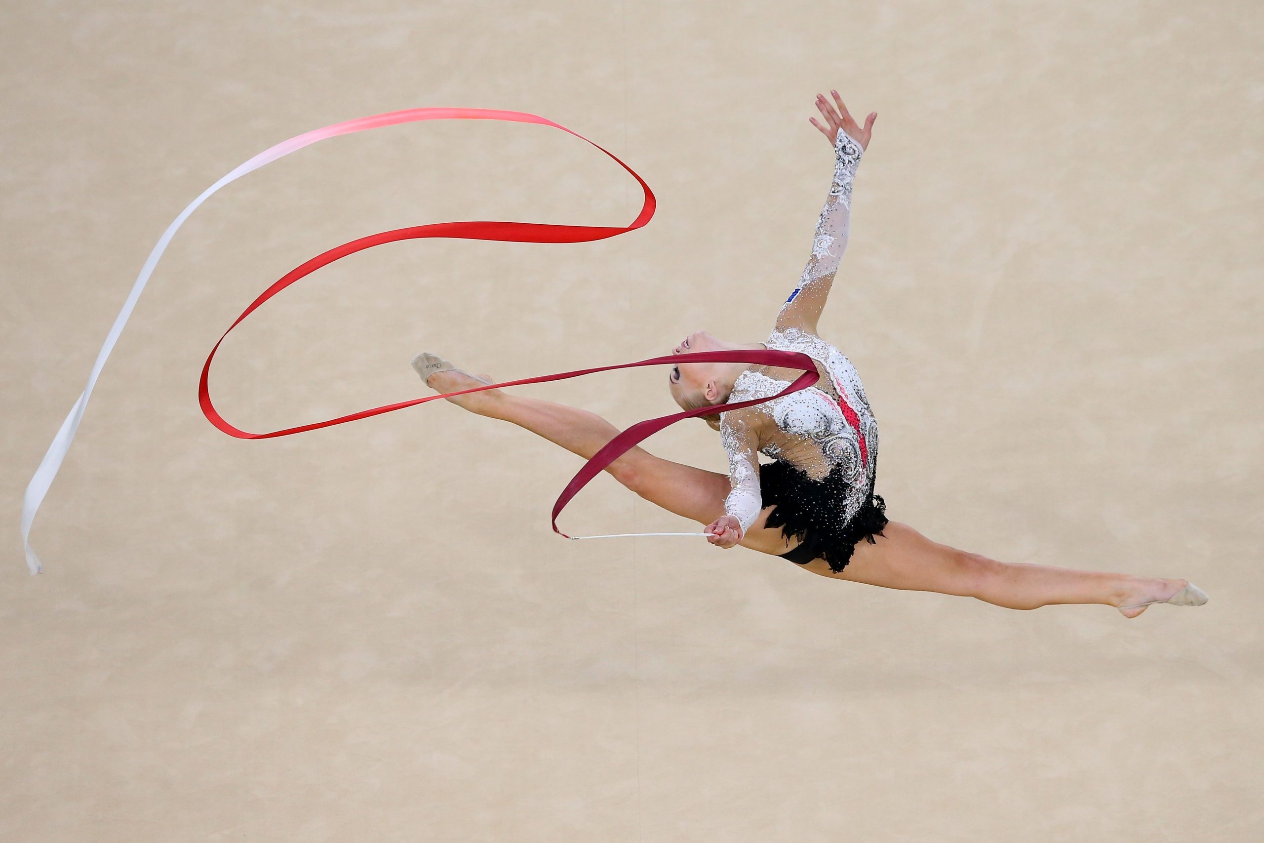
[[[685,409],[715,406],[703,418],[719,431],[729,474],[656,458],[633,447],[605,470],[642,498],[707,525],[707,541],[742,545],[837,579],[894,589],[973,597],[1010,609],[1054,603],[1103,603],[1135,618],[1153,603],[1202,605],[1207,595],[1188,580],[1000,562],[932,541],[887,521],[873,494],[877,422],[851,360],[817,335],[817,320],[847,248],[852,178],[868,147],[877,112],[861,128],[837,91],[817,96],[825,125],[809,121],[834,148],[834,178],[817,224],[811,257],[763,343],[726,343],[695,331],[675,354],[738,349],[803,351],[817,363],[817,385],[733,411],[726,403],[765,398],[798,372],[746,363],[680,363],[667,375]],[[834,105],[837,104],[837,109]],[[494,383],[428,353],[412,360],[439,392]],[[525,427],[585,459],[619,431],[585,409],[488,389],[447,401],[480,416]],[[761,464],[757,452],[772,458]],[[863,540],[863,541],[862,541]]]

